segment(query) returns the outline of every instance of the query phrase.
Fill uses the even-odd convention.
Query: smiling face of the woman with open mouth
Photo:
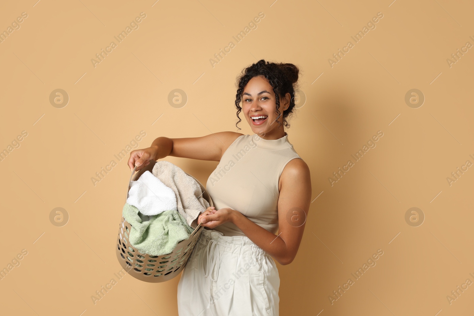
[[[280,117],[278,117],[275,113],[275,93],[264,76],[256,76],[250,79],[242,94],[242,112],[244,112],[247,123],[252,127],[252,131],[261,137],[263,135],[284,135],[283,126],[278,128],[278,122],[283,121],[283,109],[288,107],[289,104],[290,93],[286,93],[286,98],[280,98],[280,108],[278,109]],[[264,118],[256,120],[252,118],[259,116],[264,116]]]

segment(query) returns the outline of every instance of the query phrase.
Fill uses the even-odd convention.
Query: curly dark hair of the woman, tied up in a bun
[[[283,111],[283,124],[287,128],[290,127],[290,124],[288,124],[286,121],[286,117],[293,113],[293,108],[295,107],[294,91],[295,89],[298,89],[297,81],[299,72],[299,68],[292,63],[270,63],[265,62],[264,59],[261,59],[242,70],[242,72],[237,76],[237,94],[235,106],[237,108],[238,122],[236,123],[236,126],[241,121],[239,117],[239,113],[242,111],[240,102],[242,101],[242,94],[246,84],[255,76],[264,76],[272,86],[273,92],[275,93],[275,113],[278,118],[281,116],[281,113],[278,110],[278,108],[280,108],[280,98],[284,97],[286,93],[290,93],[290,106]],[[278,120],[278,118],[277,122],[279,126],[281,126],[282,122]],[[241,129],[238,126],[237,128]]]

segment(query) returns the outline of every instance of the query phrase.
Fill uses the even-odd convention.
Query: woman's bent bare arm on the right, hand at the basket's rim
[[[280,180],[278,197],[279,235],[258,226],[237,210],[225,208],[214,214],[200,216],[203,226],[213,228],[227,221],[234,223],[257,246],[282,265],[290,264],[298,252],[310,208],[311,179],[308,165],[301,159],[286,164]],[[216,225],[217,224],[217,225]]]

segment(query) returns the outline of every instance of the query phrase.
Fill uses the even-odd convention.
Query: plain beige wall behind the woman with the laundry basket
[[[158,136],[238,131],[235,78],[264,58],[301,67],[306,102],[287,131],[313,189],[299,253],[278,265],[280,315],[471,315],[474,285],[451,304],[447,295],[474,282],[474,167],[451,186],[447,177],[474,163],[474,52],[451,67],[447,58],[474,45],[473,9],[467,0],[2,2],[0,30],[27,13],[0,43],[0,150],[27,132],[0,162],[0,269],[27,251],[0,281],[2,312],[177,315],[179,277],[148,284],[127,275],[92,302],[121,270],[114,247],[130,171],[114,154],[142,130],[137,148]],[[140,12],[139,28],[94,67]],[[259,12],[257,28],[236,43]],[[377,12],[375,29],[331,67]],[[212,67],[230,41],[236,46]],[[55,89],[69,96],[63,108],[49,101]],[[173,89],[186,93],[184,107],[168,103]],[[411,89],[425,97],[419,108],[405,103]],[[245,119],[239,126],[252,134]],[[379,130],[376,147],[331,186]],[[204,184],[217,165],[165,159]],[[94,185],[111,160],[117,165]],[[50,221],[58,207],[65,226]],[[421,226],[405,221],[412,207],[425,216]],[[376,265],[331,304],[378,249]]]

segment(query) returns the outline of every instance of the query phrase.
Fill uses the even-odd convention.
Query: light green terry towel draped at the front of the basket
[[[154,256],[171,253],[176,245],[188,239],[194,229],[177,210],[158,215],[142,215],[138,208],[125,203],[122,215],[132,226],[128,240],[141,253]]]

